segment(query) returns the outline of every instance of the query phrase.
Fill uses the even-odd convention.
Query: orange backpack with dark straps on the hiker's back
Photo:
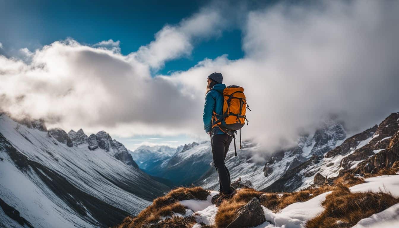
[[[213,127],[219,127],[224,133],[233,136],[234,139],[234,156],[237,156],[237,149],[235,148],[235,136],[237,130],[240,130],[240,149],[241,145],[241,128],[245,125],[245,121],[248,120],[245,117],[246,109],[249,109],[247,100],[245,99],[244,88],[237,85],[227,86],[223,90],[223,115],[218,115],[213,112],[212,123]],[[215,122],[214,122],[215,121]]]

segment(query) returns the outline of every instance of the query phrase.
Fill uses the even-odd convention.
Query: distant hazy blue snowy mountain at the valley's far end
[[[138,167],[154,176],[162,176],[162,170],[175,153],[176,148],[168,146],[141,146],[130,151]]]

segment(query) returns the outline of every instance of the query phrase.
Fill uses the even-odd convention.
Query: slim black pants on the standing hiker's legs
[[[223,192],[224,194],[230,194],[232,192],[230,188],[230,173],[224,163],[232,139],[233,137],[227,134],[213,134],[211,138],[213,165],[219,174],[219,192]]]

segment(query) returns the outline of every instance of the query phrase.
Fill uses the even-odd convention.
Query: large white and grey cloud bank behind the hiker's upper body
[[[0,56],[0,107],[64,129],[199,136],[205,79],[219,71],[226,84],[245,88],[253,111],[243,135],[268,149],[331,117],[356,132],[398,111],[397,12],[398,2],[360,0],[249,10],[242,59],[222,55],[156,77],[152,70],[190,55],[195,40],[223,30],[228,17],[201,10],[127,56],[113,40],[57,41],[31,53],[30,61]]]

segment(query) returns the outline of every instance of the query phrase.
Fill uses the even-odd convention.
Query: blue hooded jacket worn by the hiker
[[[223,115],[223,89],[226,88],[225,84],[216,84],[213,86],[211,91],[205,95],[205,105],[203,107],[203,127],[206,133],[209,133],[212,129],[213,123],[212,113],[215,111],[218,115]],[[223,131],[219,131],[219,127],[215,129],[217,134],[224,134]]]

